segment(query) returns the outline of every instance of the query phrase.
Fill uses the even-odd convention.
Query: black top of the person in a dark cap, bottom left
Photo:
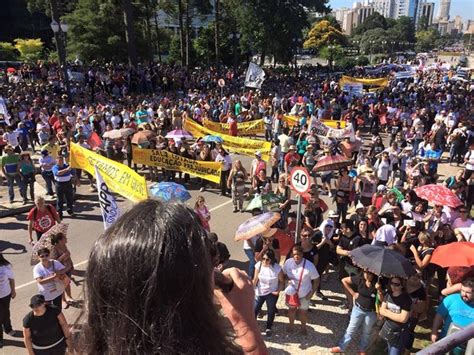
[[[64,338],[58,320],[59,313],[59,308],[46,306],[46,312],[42,316],[35,316],[31,311],[23,318],[23,327],[30,329],[33,344],[48,346]]]

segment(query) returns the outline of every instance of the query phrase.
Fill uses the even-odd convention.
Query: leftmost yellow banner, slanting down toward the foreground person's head
[[[146,181],[128,166],[103,157],[93,151],[71,143],[71,167],[87,171],[95,175],[94,166],[102,174],[107,186],[133,202],[148,198]]]

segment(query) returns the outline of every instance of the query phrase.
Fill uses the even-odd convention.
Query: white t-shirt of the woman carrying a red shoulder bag
[[[303,263],[304,263],[304,271],[303,277],[301,279],[300,289],[298,291],[298,297],[303,298],[306,297],[313,287],[312,280],[316,280],[319,278],[318,271],[314,264],[306,259],[303,259],[300,264],[296,264],[295,259],[290,258],[285,261],[283,265],[283,273],[288,277],[288,283],[292,285],[295,290],[298,289],[298,283],[301,277],[301,271],[303,271]]]

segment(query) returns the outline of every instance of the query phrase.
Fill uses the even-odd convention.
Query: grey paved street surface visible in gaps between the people
[[[232,159],[242,160],[244,166],[247,168],[250,166],[250,157],[232,155]],[[445,176],[453,174],[456,170],[455,167],[442,164],[439,170],[442,175],[441,179],[444,180]],[[69,223],[68,247],[71,251],[74,264],[76,265],[78,274],[76,280],[80,283],[78,287],[73,286],[73,297],[76,299],[82,298],[80,293],[89,252],[93,247],[94,241],[103,231],[102,217],[97,204],[96,195],[89,192],[89,188],[86,184],[79,188],[79,192],[83,197],[76,203],[77,216],[74,218],[65,218],[65,222]],[[188,203],[190,206],[193,206],[195,198],[201,193],[197,186],[193,186],[190,192],[192,199],[189,200]],[[231,253],[231,265],[245,268],[247,258],[243,253],[242,244],[233,241],[233,234],[237,226],[249,218],[250,214],[233,213],[230,198],[219,196],[219,190],[217,188],[210,188],[203,192],[202,195],[205,197],[206,204],[211,210],[211,230],[216,232],[219,239],[228,246]],[[331,206],[331,201],[327,196],[321,196],[321,198]],[[131,206],[130,202],[121,197],[119,198],[119,204],[123,211]],[[295,206],[293,209],[295,209]],[[15,217],[1,218],[0,231],[0,251],[2,251],[5,257],[13,264],[17,285],[17,297],[12,301],[11,305],[12,324],[14,329],[21,330],[23,316],[29,311],[29,299],[33,294],[37,293],[37,286],[32,279],[32,267],[30,266],[31,246],[27,244],[26,213]],[[302,353],[314,354],[315,350],[321,350],[326,346],[330,346],[338,339],[341,330],[346,326],[347,318],[343,316],[342,311],[337,308],[342,296],[338,291],[339,285],[335,280],[331,279],[329,287],[326,285],[325,289],[328,288],[336,292],[328,293],[328,296],[332,296],[332,299],[324,304],[319,304],[317,307],[316,318],[320,319],[320,316],[322,317],[320,320],[322,323],[318,322],[315,324],[318,330],[318,340],[316,341],[314,337],[306,338],[300,348]],[[73,322],[77,318],[78,310],[69,308],[65,310],[64,313],[68,321]],[[323,321],[323,319],[327,319],[328,322]],[[277,317],[275,324],[276,334],[279,333],[279,327],[282,328],[281,334],[285,334],[283,331],[284,324],[286,324],[286,318],[281,318],[281,316]],[[327,334],[327,336],[324,336],[325,334]],[[324,339],[321,339],[322,335]],[[315,342],[318,344],[316,348],[314,347]],[[276,336],[272,338],[272,343],[269,343],[269,346],[273,349],[272,353],[277,354],[287,353],[285,347],[288,345],[290,345],[288,339]],[[23,348],[22,338],[12,338],[5,335],[5,347],[3,350],[0,350],[0,354],[14,355],[25,353],[26,350]]]

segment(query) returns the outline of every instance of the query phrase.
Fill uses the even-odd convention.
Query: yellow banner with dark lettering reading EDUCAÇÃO
[[[221,163],[184,158],[166,150],[140,149],[133,146],[133,161],[137,164],[159,166],[168,170],[182,171],[215,183],[221,181]]]

